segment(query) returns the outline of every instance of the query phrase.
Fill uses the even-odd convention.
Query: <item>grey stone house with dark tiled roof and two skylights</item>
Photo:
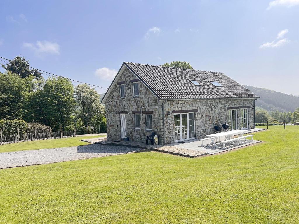
[[[257,95],[223,73],[123,62],[105,93],[107,139],[159,144],[214,133],[214,126],[255,128]]]

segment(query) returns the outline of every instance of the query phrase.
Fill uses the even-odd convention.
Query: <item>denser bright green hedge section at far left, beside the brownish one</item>
[[[24,120],[0,120],[0,129],[3,135],[26,133],[27,123]]]

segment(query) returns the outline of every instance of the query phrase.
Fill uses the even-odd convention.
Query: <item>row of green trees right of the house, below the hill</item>
[[[255,122],[256,123],[266,123],[271,122],[284,122],[286,120],[287,123],[295,123],[299,122],[299,108],[297,108],[293,113],[289,112],[280,112],[278,110],[272,111],[269,113],[263,109],[257,109],[255,112]]]

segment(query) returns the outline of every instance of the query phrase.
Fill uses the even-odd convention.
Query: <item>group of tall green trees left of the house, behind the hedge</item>
[[[74,87],[70,80],[30,69],[28,60],[17,56],[0,72],[0,119],[23,119],[57,131],[89,127],[106,128],[105,108],[100,95],[88,85]],[[103,130],[106,131],[106,130]]]

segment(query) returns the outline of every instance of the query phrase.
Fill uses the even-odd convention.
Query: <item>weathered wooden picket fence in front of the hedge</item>
[[[59,139],[59,138],[70,138],[76,137],[76,131],[55,131],[55,132],[36,132],[36,133],[21,133],[13,135],[2,135],[0,130],[0,145],[16,143],[16,142],[27,142],[44,139]]]

